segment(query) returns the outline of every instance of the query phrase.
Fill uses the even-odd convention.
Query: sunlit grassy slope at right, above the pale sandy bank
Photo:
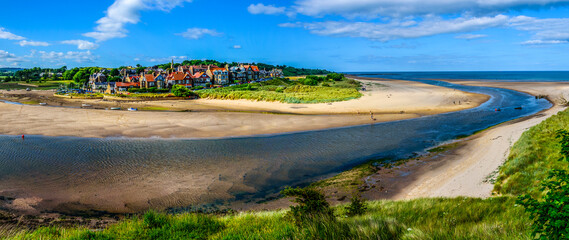
[[[569,169],[561,157],[558,130],[569,130],[569,110],[559,112],[524,132],[500,168],[494,191],[499,194],[531,194],[540,197],[541,180],[551,169]]]

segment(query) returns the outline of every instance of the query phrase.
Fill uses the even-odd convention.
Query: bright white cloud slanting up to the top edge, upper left
[[[127,24],[136,24],[140,21],[142,10],[170,11],[191,0],[115,0],[107,9],[106,15],[97,21],[95,31],[83,34],[97,41],[106,41],[113,38],[127,36]]]

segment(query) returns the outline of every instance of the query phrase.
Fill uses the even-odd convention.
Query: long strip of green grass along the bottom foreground
[[[286,211],[216,216],[148,212],[106,229],[44,227],[9,239],[530,239],[523,208],[512,197],[372,201],[363,216],[296,226]],[[1,233],[0,233],[1,234]]]

